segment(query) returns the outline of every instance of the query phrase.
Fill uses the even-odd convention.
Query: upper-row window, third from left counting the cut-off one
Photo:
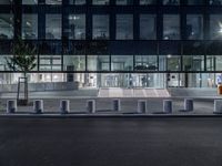
[[[46,39],[61,39],[61,14],[46,15]]]

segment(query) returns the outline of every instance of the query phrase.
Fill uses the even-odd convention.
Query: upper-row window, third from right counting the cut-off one
[[[163,15],[163,39],[164,40],[180,39],[180,17],[178,14]]]

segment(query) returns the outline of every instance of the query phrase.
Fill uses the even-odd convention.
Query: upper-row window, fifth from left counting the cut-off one
[[[109,39],[109,15],[93,15],[93,39]]]

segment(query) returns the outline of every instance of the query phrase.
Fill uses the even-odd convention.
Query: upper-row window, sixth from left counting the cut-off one
[[[117,40],[133,39],[133,17],[132,14],[117,14]]]

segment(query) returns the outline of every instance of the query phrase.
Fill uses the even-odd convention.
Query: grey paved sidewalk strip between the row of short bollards
[[[87,101],[91,98],[69,98],[70,100],[70,113],[85,114]],[[138,110],[138,100],[141,98],[121,98],[121,111],[112,111],[112,98],[97,98],[97,113],[98,115],[122,115],[122,114],[135,114]],[[157,112],[161,112],[163,108],[163,100],[165,98],[142,98],[148,102],[148,115],[152,115]],[[193,112],[180,112],[183,110],[183,98],[173,98],[173,113],[172,115],[213,115],[213,98],[194,98]],[[59,113],[60,98],[46,98],[44,112],[46,113]],[[32,100],[30,100],[29,106],[18,106],[18,113],[29,114],[33,112]],[[0,101],[0,113],[6,114],[7,98]]]

